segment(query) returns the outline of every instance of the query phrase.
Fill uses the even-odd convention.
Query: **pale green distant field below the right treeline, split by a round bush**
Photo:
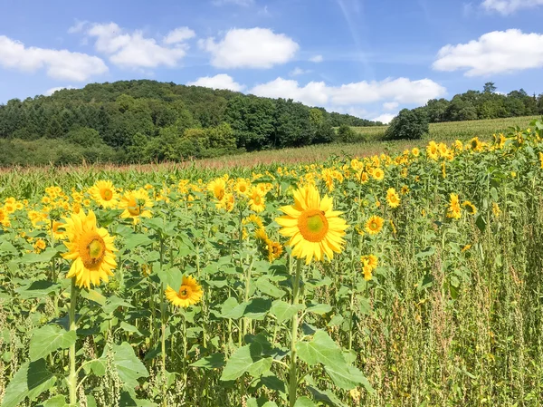
[[[528,126],[529,121],[539,116],[509,117],[507,119],[489,119],[481,121],[447,121],[430,124],[429,138],[433,140],[466,139],[474,136],[491,136],[495,132],[507,131],[510,127]],[[385,135],[388,126],[353,127],[358,135],[367,141],[379,140]]]

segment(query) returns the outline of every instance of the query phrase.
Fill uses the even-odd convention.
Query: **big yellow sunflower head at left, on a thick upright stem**
[[[69,242],[64,243],[69,252],[62,257],[73,260],[66,277],[75,277],[77,286],[90,288],[100,286],[101,280],[109,281],[111,270],[117,266],[113,246],[114,237],[105,228],[96,226],[96,216],[92,210],[84,211],[66,218],[66,233]]]

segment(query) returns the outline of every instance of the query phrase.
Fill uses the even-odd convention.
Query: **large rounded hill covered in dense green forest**
[[[333,141],[342,124],[381,123],[172,82],[92,83],[0,105],[0,165],[213,157]]]

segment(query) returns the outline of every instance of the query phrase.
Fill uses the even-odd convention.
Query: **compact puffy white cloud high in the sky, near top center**
[[[258,27],[233,29],[218,43],[211,37],[199,44],[217,68],[271,68],[291,61],[299,49],[287,35]]]

